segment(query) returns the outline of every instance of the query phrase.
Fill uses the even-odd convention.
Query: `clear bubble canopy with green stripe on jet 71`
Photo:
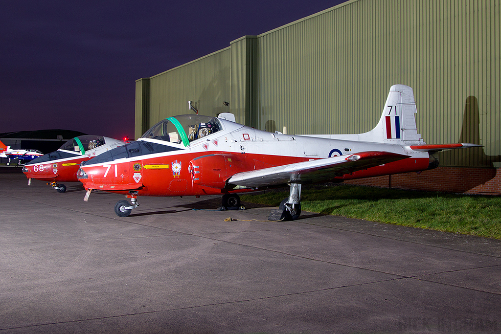
[[[166,118],[146,131],[141,138],[150,138],[189,146],[190,142],[221,130],[216,117],[179,115]]]

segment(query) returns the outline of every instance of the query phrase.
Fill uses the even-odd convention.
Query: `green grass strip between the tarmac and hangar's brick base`
[[[289,190],[242,194],[242,201],[278,206]],[[501,196],[316,186],[301,192],[303,211],[501,239]]]

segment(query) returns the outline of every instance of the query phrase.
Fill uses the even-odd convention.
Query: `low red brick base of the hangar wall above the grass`
[[[346,180],[346,184],[383,188],[500,195],[501,168],[438,167],[420,173],[405,173]]]

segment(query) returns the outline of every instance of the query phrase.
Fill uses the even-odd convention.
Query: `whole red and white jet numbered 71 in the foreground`
[[[239,192],[290,185],[283,220],[301,214],[301,185],[341,182],[438,166],[432,155],[468,143],[426,145],[417,133],[412,88],[390,88],[379,123],[348,135],[285,135],[256,130],[219,117],[181,115],[155,124],[130,144],[82,163],[78,179],[92,189],[125,194],[115,213],[126,217],[138,196],[222,194],[222,207],[238,207]]]

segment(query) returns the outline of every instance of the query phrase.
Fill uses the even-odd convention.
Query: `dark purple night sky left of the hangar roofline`
[[[342,2],[3,2],[0,133],[132,138],[136,79]]]

